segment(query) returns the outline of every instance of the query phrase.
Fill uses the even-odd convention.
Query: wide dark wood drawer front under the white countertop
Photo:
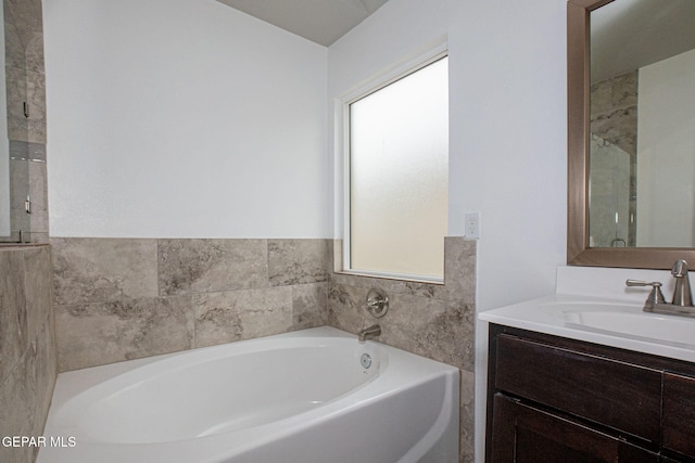
[[[497,336],[495,387],[640,436],[661,438],[661,372],[516,336]]]

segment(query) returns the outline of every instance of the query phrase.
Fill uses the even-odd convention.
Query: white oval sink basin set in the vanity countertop
[[[611,303],[554,301],[542,311],[579,329],[619,333],[658,342],[695,345],[695,320],[644,312],[640,306]]]

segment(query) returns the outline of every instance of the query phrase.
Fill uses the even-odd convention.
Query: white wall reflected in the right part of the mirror
[[[695,50],[640,68],[637,246],[695,245]]]

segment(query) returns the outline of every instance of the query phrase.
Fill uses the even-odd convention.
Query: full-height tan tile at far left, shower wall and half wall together
[[[41,0],[5,0],[5,77],[13,240],[48,242],[46,79]],[[25,117],[24,102],[29,117]],[[31,215],[24,210],[30,195]],[[28,240],[27,240],[28,237]],[[0,247],[0,436],[41,436],[58,374],[49,246]],[[38,447],[0,446],[33,463]]]

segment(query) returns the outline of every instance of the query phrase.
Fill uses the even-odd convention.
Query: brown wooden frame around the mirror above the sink
[[[668,245],[661,247],[660,244],[641,246],[639,243],[629,247],[628,243],[621,239],[617,241],[624,244],[624,247],[608,245],[599,247],[594,245],[595,240],[590,233],[590,144],[592,137],[595,137],[591,133],[592,73],[590,54],[592,43],[590,18],[593,11],[621,1],[629,0],[568,0],[567,3],[567,263],[593,267],[670,269],[678,259],[695,262],[695,247]],[[662,0],[649,1],[664,4]]]

